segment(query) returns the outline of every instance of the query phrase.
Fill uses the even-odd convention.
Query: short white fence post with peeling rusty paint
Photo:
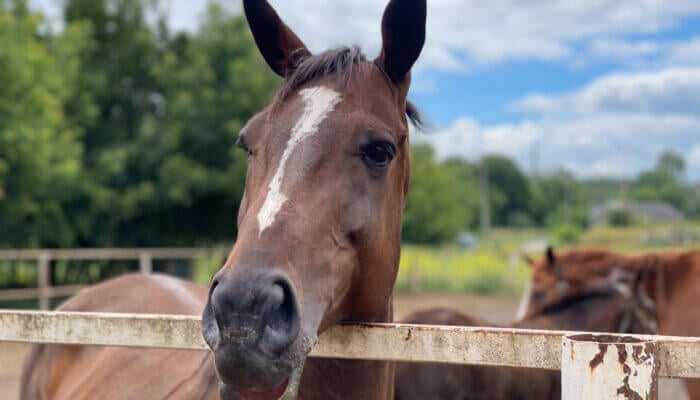
[[[658,343],[580,334],[562,338],[562,400],[658,399]]]

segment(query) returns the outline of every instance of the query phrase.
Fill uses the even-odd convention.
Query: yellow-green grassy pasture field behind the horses
[[[557,249],[587,246],[607,247],[622,252],[700,248],[700,222],[629,228],[596,227],[581,232],[578,240],[569,244],[562,244],[556,230],[494,229],[473,250],[461,249],[453,244],[433,247],[404,245],[396,290],[399,293],[517,297],[529,277],[529,268],[521,261],[519,253],[524,245],[533,241],[554,243]],[[220,268],[222,257],[196,259],[193,279],[208,284]],[[56,282],[63,285],[96,282],[103,278],[104,266],[104,262],[98,261],[58,261],[54,276]],[[128,265],[119,267],[120,271],[130,269]],[[135,264],[132,267],[135,268]],[[162,266],[155,264],[155,268],[161,270]],[[177,269],[169,271],[175,272]],[[36,287],[36,282],[35,263],[0,262],[0,289]],[[36,302],[0,302],[0,307],[35,308]]]

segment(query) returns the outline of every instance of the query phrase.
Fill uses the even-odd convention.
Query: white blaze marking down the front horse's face
[[[287,147],[280,159],[280,165],[268,186],[270,190],[267,192],[265,203],[258,212],[260,234],[275,222],[275,216],[287,201],[287,196],[281,192],[282,178],[292,152],[302,140],[318,131],[318,126],[340,101],[340,93],[323,86],[304,89],[299,94],[304,101],[304,111],[292,128]]]

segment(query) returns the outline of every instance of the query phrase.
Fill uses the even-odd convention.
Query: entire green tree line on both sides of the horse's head
[[[52,31],[27,0],[0,0],[0,247],[235,238],[246,172],[236,137],[280,81],[241,16],[213,2],[197,32],[173,32],[159,3],[66,0]],[[478,226],[482,163],[495,225],[585,226],[587,207],[619,191],[700,209],[673,153],[630,182],[528,177],[503,156],[438,161],[426,146],[412,156],[410,242]]]

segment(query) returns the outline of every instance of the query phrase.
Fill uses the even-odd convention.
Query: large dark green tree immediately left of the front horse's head
[[[158,33],[157,1],[70,0],[66,20],[94,27],[70,117],[86,131],[81,195],[66,206],[82,246],[173,246],[232,240],[246,157],[238,130],[272,97],[241,16],[211,6],[195,36]],[[150,8],[149,8],[150,7]]]

